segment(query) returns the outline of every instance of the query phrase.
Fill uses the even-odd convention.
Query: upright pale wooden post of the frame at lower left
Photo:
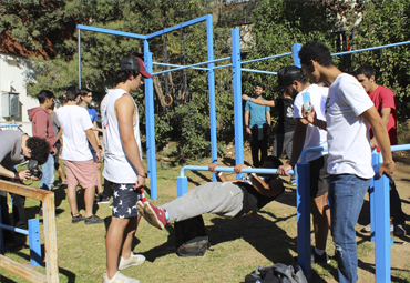
[[[48,282],[59,282],[59,265],[57,256],[57,229],[54,194],[48,194],[43,202],[43,226],[45,243],[45,267]]]

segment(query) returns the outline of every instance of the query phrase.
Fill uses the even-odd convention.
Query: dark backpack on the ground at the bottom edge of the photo
[[[304,271],[297,263],[286,265],[258,266],[254,272],[245,276],[245,283],[308,283]]]

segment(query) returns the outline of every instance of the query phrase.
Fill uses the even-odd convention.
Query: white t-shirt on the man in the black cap
[[[310,101],[315,108],[316,115],[318,119],[325,121],[325,103],[327,95],[329,93],[328,88],[322,88],[317,84],[311,84],[307,87],[305,90],[299,92],[294,102],[294,118],[303,118],[301,114],[301,107],[304,105],[304,93],[310,93]],[[311,148],[311,146],[327,146],[327,132],[321,130],[312,124],[308,124],[306,129],[306,138],[304,143],[304,149]],[[310,162],[316,160],[327,152],[309,152],[306,154],[306,162]]]

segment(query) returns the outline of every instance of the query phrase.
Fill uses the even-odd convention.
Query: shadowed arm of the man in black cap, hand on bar
[[[306,119],[297,118],[294,138],[291,142],[291,156],[288,164],[280,165],[278,168],[279,175],[289,175],[287,172],[295,169],[295,164],[298,162],[301,151],[304,150],[304,143],[306,138],[306,128],[309,122]]]

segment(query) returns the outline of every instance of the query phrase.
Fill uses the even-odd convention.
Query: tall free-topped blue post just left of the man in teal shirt
[[[232,64],[234,81],[234,122],[235,122],[235,154],[236,164],[244,163],[244,127],[242,113],[242,67],[240,67],[240,41],[239,30],[233,29],[232,37]],[[242,178],[244,174],[236,174]]]

